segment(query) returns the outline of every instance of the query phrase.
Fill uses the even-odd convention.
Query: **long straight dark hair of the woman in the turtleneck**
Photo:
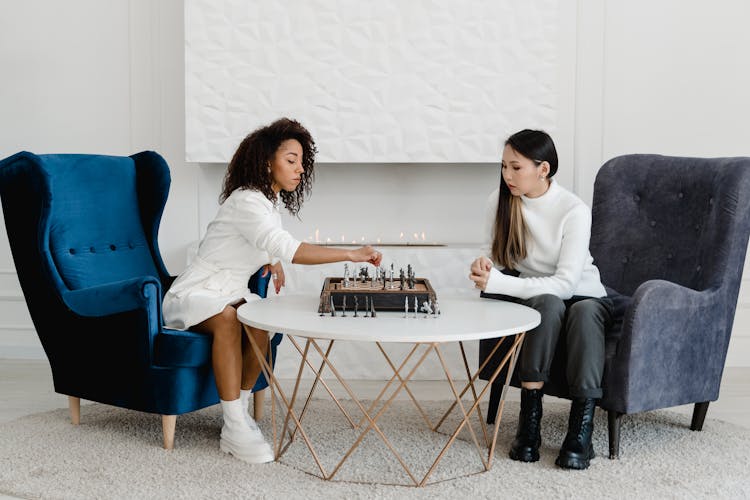
[[[549,163],[550,178],[557,172],[557,150],[552,138],[541,130],[524,129],[508,137],[505,146],[537,165]],[[526,223],[521,212],[521,197],[513,196],[500,175],[500,194],[492,231],[492,260],[513,269],[526,258]]]

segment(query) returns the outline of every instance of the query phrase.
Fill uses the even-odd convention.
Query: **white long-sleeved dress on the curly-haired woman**
[[[265,264],[291,262],[299,245],[263,193],[235,190],[208,225],[195,259],[164,296],[164,324],[186,330],[229,304],[260,299],[247,288],[250,276]]]

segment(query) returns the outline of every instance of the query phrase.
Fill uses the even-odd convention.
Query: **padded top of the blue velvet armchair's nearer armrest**
[[[152,287],[156,287],[154,290]],[[101,317],[135,309],[148,309],[152,296],[160,297],[159,280],[141,276],[104,285],[63,292],[65,305],[79,316]]]

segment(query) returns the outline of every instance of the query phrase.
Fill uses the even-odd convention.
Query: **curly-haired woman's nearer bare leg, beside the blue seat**
[[[190,329],[208,333],[213,337],[211,362],[219,397],[224,401],[239,399],[242,377],[242,330],[235,308],[227,306],[219,314]]]

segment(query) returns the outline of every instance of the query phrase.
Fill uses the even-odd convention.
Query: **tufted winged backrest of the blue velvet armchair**
[[[37,265],[58,291],[138,276],[167,280],[157,233],[169,182],[169,169],[154,152],[22,152],[3,160],[3,213],[19,280],[27,281],[24,293],[43,286],[35,282],[39,276],[31,282],[25,276]]]

